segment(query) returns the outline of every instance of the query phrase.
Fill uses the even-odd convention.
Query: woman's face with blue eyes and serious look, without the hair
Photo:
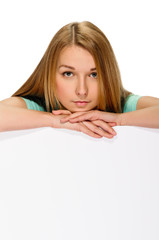
[[[78,46],[64,48],[56,69],[56,94],[71,112],[88,111],[98,104],[98,78],[92,55]]]

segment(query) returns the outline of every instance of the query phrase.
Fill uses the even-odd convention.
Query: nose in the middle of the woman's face
[[[79,77],[77,80],[76,94],[81,98],[86,97],[88,94],[88,87],[84,77]]]

